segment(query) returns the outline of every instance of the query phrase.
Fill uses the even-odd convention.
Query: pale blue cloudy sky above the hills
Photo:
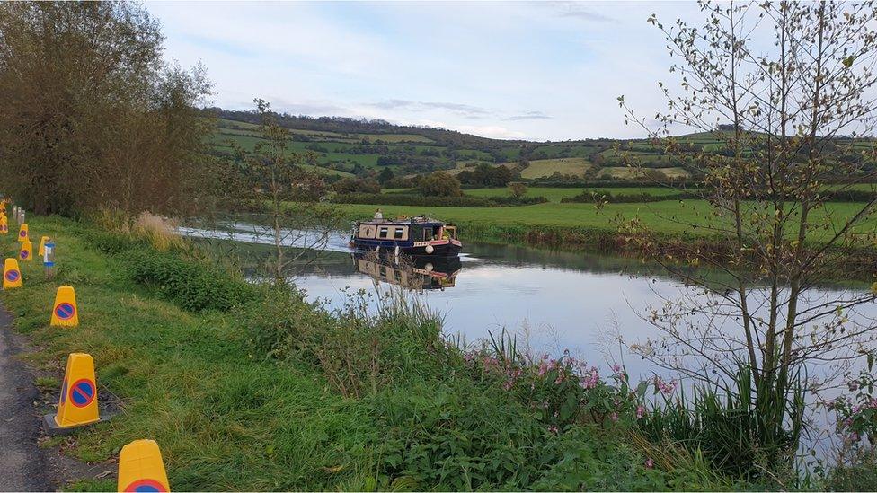
[[[646,22],[684,2],[164,2],[165,57],[201,62],[211,105],[385,119],[493,138],[643,136],[672,59]]]

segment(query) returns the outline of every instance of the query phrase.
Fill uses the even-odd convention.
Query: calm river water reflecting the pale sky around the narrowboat
[[[264,232],[251,225],[230,229],[217,233],[182,228],[182,233],[270,243]],[[301,241],[300,235],[296,238]],[[295,246],[295,241],[290,242]],[[660,266],[611,255],[466,242],[458,260],[397,261],[352,254],[346,233],[333,234],[320,250],[306,256],[292,273],[292,280],[311,301],[341,308],[352,293],[362,290],[373,295],[370,303],[375,304],[377,298],[403,290],[443,316],[449,337],[472,343],[506,330],[516,336],[519,348],[533,355],[559,356],[569,351],[590,365],[625,365],[634,379],[672,375],[626,351],[618,339],[659,341],[662,334],[646,320],[651,308],[702,295],[668,277]],[[718,274],[716,283],[722,284]],[[862,284],[824,286],[812,291],[803,305],[850,299],[866,291]],[[853,328],[873,324],[877,305],[859,305],[846,310],[845,316]],[[740,333],[739,322],[732,317],[708,321],[702,316],[700,320],[693,317],[691,321],[712,323],[719,333]],[[709,363],[701,358],[691,365],[703,369]],[[837,373],[837,365],[825,361],[810,371],[811,376],[831,375]]]

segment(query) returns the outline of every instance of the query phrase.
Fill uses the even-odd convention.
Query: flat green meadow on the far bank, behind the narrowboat
[[[856,203],[833,203],[831,214],[843,218],[855,213]],[[715,235],[710,224],[709,207],[703,200],[651,202],[648,204],[609,204],[602,211],[593,204],[546,203],[523,207],[409,207],[385,205],[341,205],[350,221],[370,217],[381,208],[385,217],[427,215],[456,224],[466,241],[497,242],[549,248],[563,251],[612,253],[642,259],[668,261],[691,256],[693,251],[709,252],[713,258],[730,255],[732,244]],[[624,220],[641,221],[637,241],[620,231]],[[702,224],[701,227],[688,224]],[[833,247],[844,259],[839,281],[873,280],[877,250],[869,242],[877,233],[874,219],[861,224],[856,233],[861,244]],[[819,245],[820,234],[812,233],[810,244]],[[645,245],[645,246],[644,246]]]

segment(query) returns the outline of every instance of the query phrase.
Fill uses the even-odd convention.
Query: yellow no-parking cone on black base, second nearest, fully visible
[[[50,435],[64,433],[100,420],[94,360],[85,353],[71,353],[67,357],[64,383],[61,384],[58,412],[44,417],[47,431]]]

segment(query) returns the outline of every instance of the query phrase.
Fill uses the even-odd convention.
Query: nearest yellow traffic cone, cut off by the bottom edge
[[[118,491],[170,491],[162,451],[155,440],[135,440],[119,454]]]

